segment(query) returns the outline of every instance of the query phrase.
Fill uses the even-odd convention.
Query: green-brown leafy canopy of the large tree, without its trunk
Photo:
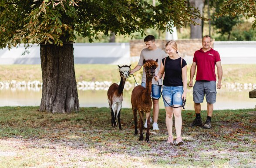
[[[73,42],[79,36],[90,42],[99,33],[145,34],[144,29],[172,31],[173,26],[196,24],[202,18],[185,0],[0,0],[0,48],[20,43]],[[207,20],[207,19],[205,19]]]

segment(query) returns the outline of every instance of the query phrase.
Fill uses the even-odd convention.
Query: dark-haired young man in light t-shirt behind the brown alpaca
[[[160,66],[161,66],[161,61],[163,58],[166,57],[166,53],[160,49],[157,48],[157,46],[155,45],[155,37],[152,35],[148,35],[145,37],[144,42],[147,46],[147,48],[144,48],[141,51],[141,55],[140,55],[140,59],[138,62],[138,65],[132,69],[130,71],[131,74],[135,73],[136,71],[140,70],[141,67],[143,66],[143,60],[148,60],[148,59],[153,59],[156,60],[158,59],[158,67],[155,70],[155,74],[158,74],[158,71],[160,70]],[[159,85],[161,85],[162,87],[162,79],[160,79],[159,81]],[[155,79],[152,79],[152,93],[151,93],[151,97],[152,97],[152,102],[153,102],[153,130],[158,130],[158,124],[157,124],[157,120],[158,120],[158,114],[159,114],[159,98],[161,97],[161,89],[158,86],[158,82],[155,81]],[[141,79],[141,86],[145,87],[146,86],[146,73],[143,67],[143,74],[142,74],[142,79]],[[147,113],[146,119],[148,118],[149,113]],[[144,127],[147,128],[147,120],[144,124]]]

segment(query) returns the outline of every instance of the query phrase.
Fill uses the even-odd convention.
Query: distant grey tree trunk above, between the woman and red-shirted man
[[[191,6],[198,8],[200,14],[202,15],[203,7],[204,7],[204,0],[189,0]],[[201,19],[192,19],[196,23],[200,25],[190,25],[190,38],[191,39],[201,39],[202,38],[202,20]]]

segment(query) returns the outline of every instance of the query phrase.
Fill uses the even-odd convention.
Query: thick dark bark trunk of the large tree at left
[[[79,111],[74,72],[73,44],[40,45],[43,76],[40,111],[71,113]]]

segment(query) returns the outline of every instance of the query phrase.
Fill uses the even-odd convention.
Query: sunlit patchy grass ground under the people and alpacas
[[[184,110],[185,144],[175,146],[166,143],[163,109],[160,130],[151,128],[147,143],[133,135],[131,109],[121,110],[119,130],[108,108],[71,114],[38,108],[0,107],[0,167],[256,167],[255,109],[215,110],[212,129],[190,128],[195,115]]]

